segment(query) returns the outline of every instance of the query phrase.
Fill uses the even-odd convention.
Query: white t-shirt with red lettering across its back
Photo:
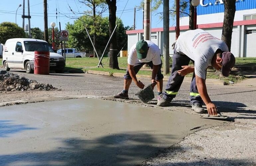
[[[209,33],[201,30],[190,30],[181,34],[176,41],[175,49],[194,60],[195,74],[205,79],[206,69],[217,49],[228,51],[227,44]]]

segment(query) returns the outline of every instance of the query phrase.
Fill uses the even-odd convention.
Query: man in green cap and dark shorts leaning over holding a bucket
[[[159,47],[152,41],[140,40],[131,47],[127,61],[128,67],[124,75],[124,89],[114,98],[128,99],[128,90],[132,80],[139,88],[143,89],[145,85],[137,79],[136,74],[144,64],[148,64],[152,69],[151,82],[153,88],[157,85],[158,101],[161,100],[164,76],[161,73],[162,61]]]

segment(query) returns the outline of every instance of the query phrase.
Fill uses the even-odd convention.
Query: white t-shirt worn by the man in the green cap
[[[150,62],[152,61],[154,65],[161,64],[161,51],[159,47],[153,43],[152,41],[145,40],[148,43],[149,49],[147,53],[147,57],[145,59],[138,59],[137,52],[136,52],[136,44],[134,44],[128,54],[128,64],[135,65],[136,62]]]

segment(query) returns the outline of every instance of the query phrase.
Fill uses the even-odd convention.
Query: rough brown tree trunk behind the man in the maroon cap
[[[227,44],[229,51],[231,49],[233,23],[236,11],[235,2],[236,0],[224,1],[225,11],[221,40],[223,40]]]

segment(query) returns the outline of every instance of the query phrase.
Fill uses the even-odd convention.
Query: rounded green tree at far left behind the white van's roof
[[[15,23],[3,22],[0,24],[0,42],[5,43],[6,40],[12,38],[26,38],[23,28]]]

